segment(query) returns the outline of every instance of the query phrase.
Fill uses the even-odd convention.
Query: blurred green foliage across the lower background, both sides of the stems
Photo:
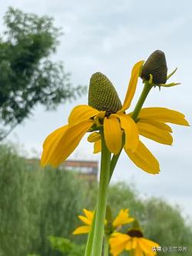
[[[94,210],[97,189],[97,183],[90,185],[71,171],[41,169],[12,148],[0,146],[0,256],[60,256],[81,250],[87,235],[72,232],[82,224],[78,220],[82,209]],[[141,200],[126,184],[110,186],[108,203],[113,217],[129,208],[146,238],[161,246],[188,247],[188,252],[171,255],[191,255],[192,228],[178,208],[158,198]]]

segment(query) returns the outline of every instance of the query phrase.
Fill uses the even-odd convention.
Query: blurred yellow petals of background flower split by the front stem
[[[87,234],[91,229],[91,223],[93,221],[94,211],[88,211],[86,209],[84,209],[83,211],[85,216],[79,215],[78,218],[82,222],[84,222],[86,225],[76,228],[73,231],[73,234]],[[118,213],[118,216],[114,219],[112,223],[113,230],[115,230],[115,228],[118,228],[121,225],[128,224],[132,221],[134,221],[134,218],[129,217],[129,210],[121,209]],[[106,224],[108,224],[108,222],[105,220],[105,225]]]

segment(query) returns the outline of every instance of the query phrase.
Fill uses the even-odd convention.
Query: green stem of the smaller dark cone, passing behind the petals
[[[151,88],[152,88],[152,86],[146,81],[144,83],[144,88],[143,88],[143,91],[141,92],[141,96],[138,99],[137,105],[135,106],[134,111],[133,111],[132,116],[131,116],[134,119],[134,121],[137,121],[137,117],[139,115],[139,112],[141,111],[141,108],[144,105],[144,101],[146,100],[147,95],[150,92]],[[122,149],[123,148],[121,148],[121,151],[122,151]],[[118,153],[118,155],[113,155],[113,157],[111,159],[111,168],[110,168],[110,179],[109,179],[109,181],[111,180],[111,177],[112,177],[113,172],[114,172],[114,168],[117,165],[118,158],[121,155],[121,151]]]

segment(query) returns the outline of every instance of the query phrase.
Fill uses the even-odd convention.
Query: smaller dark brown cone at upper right
[[[157,50],[147,58],[141,71],[141,78],[149,81],[150,75],[153,76],[155,85],[165,84],[167,81],[167,63],[164,52]]]

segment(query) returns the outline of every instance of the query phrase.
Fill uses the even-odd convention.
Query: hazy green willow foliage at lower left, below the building
[[[73,238],[87,191],[71,172],[41,169],[0,145],[0,256],[58,255],[48,237]]]

